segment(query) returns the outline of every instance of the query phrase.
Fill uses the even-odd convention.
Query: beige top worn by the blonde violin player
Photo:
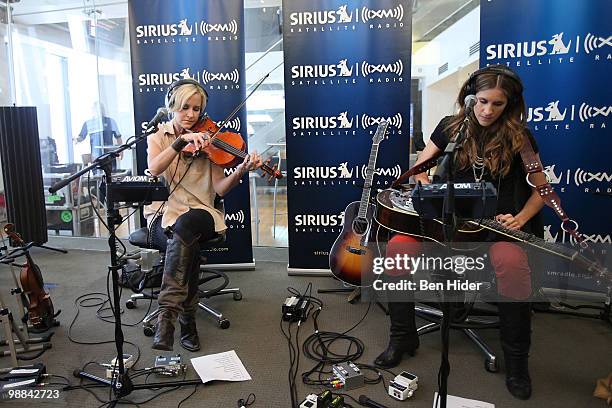
[[[155,144],[160,151],[163,151],[175,140],[172,123],[165,122],[159,126],[156,133],[148,137],[147,143],[149,146]],[[216,232],[223,232],[227,228],[223,213],[214,206],[216,193],[213,188],[212,166],[213,164],[207,158],[184,158],[181,154],[170,163],[162,174],[172,193],[160,211],[164,214],[163,228],[174,225],[177,218],[190,208],[208,211],[215,221]],[[149,224],[161,205],[162,203],[158,201],[144,208],[144,216]]]

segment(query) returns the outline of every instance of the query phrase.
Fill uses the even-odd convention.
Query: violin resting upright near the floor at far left
[[[6,224],[4,232],[20,247],[26,247],[25,242],[17,232],[13,224]],[[51,296],[45,291],[45,282],[38,265],[34,263],[30,251],[24,249],[26,263],[22,265],[19,274],[21,289],[27,297],[27,318],[36,331],[47,331],[58,323],[55,317],[60,312],[55,313]]]

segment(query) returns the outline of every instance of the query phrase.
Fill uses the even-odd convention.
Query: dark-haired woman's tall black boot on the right
[[[506,387],[519,399],[531,396],[529,347],[531,346],[531,303],[500,302],[499,326],[504,359]]]

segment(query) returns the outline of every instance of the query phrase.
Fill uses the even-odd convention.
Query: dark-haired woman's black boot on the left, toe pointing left
[[[389,345],[383,351],[374,364],[382,368],[396,367],[404,354],[414,356],[419,348],[419,335],[416,331],[414,321],[414,302],[389,302],[389,319],[391,329],[389,334]]]

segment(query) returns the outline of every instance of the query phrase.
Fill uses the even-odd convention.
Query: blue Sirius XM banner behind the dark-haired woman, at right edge
[[[612,232],[611,15],[609,0],[481,2],[480,65],[507,64],[523,79],[548,178],[578,231],[598,247],[611,243]],[[544,212],[545,238],[575,243]],[[568,277],[561,286],[589,284]]]

